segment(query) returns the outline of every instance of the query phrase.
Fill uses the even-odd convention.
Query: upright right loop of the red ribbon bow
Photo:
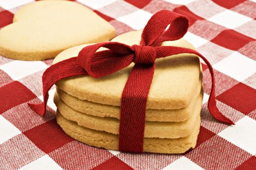
[[[160,46],[164,41],[182,38],[187,29],[187,17],[168,10],[159,11],[148,20],[141,36],[141,45]]]

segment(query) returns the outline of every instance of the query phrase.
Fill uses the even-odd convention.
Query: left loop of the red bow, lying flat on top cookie
[[[97,51],[101,47],[109,50]],[[93,44],[83,48],[78,54],[78,64],[94,78],[105,77],[126,68],[132,61],[133,49],[118,42]]]

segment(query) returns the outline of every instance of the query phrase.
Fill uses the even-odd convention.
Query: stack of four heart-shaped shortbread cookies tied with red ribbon
[[[141,34],[129,32],[112,41],[139,44]],[[61,52],[54,63],[77,56],[87,45]],[[162,45],[194,49],[184,39]],[[83,143],[118,150],[121,96],[132,67],[133,64],[103,78],[77,76],[57,82],[57,123]],[[184,153],[194,148],[200,129],[202,96],[198,56],[184,53],[157,59],[146,105],[144,152]]]

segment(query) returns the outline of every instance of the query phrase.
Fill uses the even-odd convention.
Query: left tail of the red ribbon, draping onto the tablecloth
[[[47,68],[42,76],[43,102],[39,104],[28,103],[29,107],[39,115],[44,116],[49,98],[48,91],[50,88],[61,79],[78,75],[88,74],[81,66],[78,65],[77,57],[63,60]]]

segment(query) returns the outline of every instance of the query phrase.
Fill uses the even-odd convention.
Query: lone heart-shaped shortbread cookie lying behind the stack
[[[54,58],[85,43],[108,41],[115,29],[89,8],[66,0],[40,0],[21,7],[0,31],[0,54],[19,60]]]

